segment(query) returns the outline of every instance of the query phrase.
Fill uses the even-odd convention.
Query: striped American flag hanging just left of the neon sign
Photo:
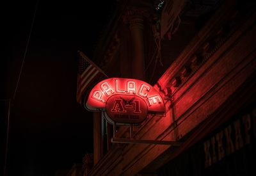
[[[95,65],[83,52],[79,53],[79,68],[77,74],[77,93],[76,100],[79,104],[82,104],[84,95],[95,84],[95,80],[100,76],[106,76],[104,72]]]

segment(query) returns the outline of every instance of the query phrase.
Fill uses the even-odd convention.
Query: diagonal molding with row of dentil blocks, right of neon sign
[[[237,24],[237,20],[240,18],[237,10],[233,10],[229,17],[230,18],[226,19],[225,22],[216,21],[218,24],[214,26],[211,25],[214,29],[209,29],[210,25],[205,25],[205,28],[195,36],[188,47],[184,49],[177,60],[172,63],[168,70],[166,70],[163,76],[157,81],[155,86],[159,88],[159,91],[163,92],[164,95],[168,97],[173,97],[204,63],[225,44],[228,38],[237,30],[239,23],[241,23],[240,21]],[[218,17],[214,19],[216,20]],[[209,24],[214,23],[210,21]],[[201,34],[204,35],[201,36]],[[170,79],[166,79],[166,76],[170,77]]]

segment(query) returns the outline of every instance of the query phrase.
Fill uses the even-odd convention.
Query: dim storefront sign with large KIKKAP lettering
[[[256,108],[240,116],[204,141],[205,168],[221,161],[246,145],[255,143]]]

